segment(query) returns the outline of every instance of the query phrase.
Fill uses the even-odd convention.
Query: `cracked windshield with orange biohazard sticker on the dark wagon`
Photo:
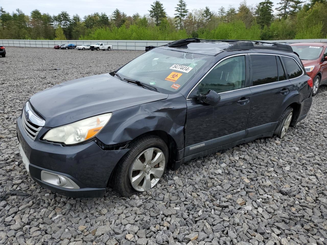
[[[159,92],[172,93],[180,90],[211,58],[155,48],[129,62],[118,74],[156,87]]]

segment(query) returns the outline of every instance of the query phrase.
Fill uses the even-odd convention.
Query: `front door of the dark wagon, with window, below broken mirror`
[[[246,55],[228,57],[206,74],[187,100],[185,153],[192,155],[244,138],[250,111]],[[215,90],[216,106],[202,104],[197,93]]]

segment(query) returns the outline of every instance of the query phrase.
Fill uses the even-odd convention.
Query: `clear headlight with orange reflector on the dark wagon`
[[[50,129],[43,139],[66,145],[83,142],[99,133],[109,122],[111,116],[112,113],[106,113]]]

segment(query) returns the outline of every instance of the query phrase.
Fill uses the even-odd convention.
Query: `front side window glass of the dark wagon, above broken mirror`
[[[221,61],[198,84],[200,93],[214,90],[217,93],[245,87],[245,56],[235,56]]]

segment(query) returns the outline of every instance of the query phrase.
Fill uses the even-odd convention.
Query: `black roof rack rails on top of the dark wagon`
[[[199,39],[199,38],[186,38],[177,41],[173,41],[168,43],[169,47],[178,47],[190,42],[234,42],[230,47],[224,49],[224,51],[233,51],[233,50],[248,50],[248,49],[268,49],[268,50],[277,50],[293,53],[293,49],[289,45],[275,43],[275,42],[265,42],[265,41],[253,41],[253,40],[235,40],[235,39],[227,39],[227,40],[211,40],[211,39]],[[269,45],[265,45],[269,44]]]

